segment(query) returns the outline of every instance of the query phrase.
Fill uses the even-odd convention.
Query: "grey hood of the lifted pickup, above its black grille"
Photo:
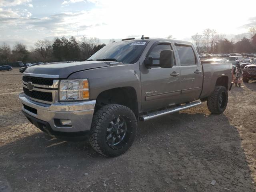
[[[116,62],[116,65],[121,63]],[[70,74],[78,71],[100,68],[100,67],[109,67],[113,64],[109,64],[106,61],[82,61],[82,62],[62,62],[62,63],[49,63],[41,64],[36,66],[28,67],[26,73],[33,74],[47,74],[47,75],[58,75],[59,78],[67,78]]]

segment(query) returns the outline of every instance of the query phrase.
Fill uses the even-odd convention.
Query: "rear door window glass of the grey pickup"
[[[192,47],[190,46],[176,46],[181,65],[194,65],[196,58]]]

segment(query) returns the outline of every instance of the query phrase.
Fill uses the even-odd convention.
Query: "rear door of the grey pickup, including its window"
[[[175,43],[180,62],[182,102],[197,100],[202,91],[203,71],[196,50],[190,44]]]

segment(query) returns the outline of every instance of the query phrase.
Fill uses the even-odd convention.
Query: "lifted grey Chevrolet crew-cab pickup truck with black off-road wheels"
[[[190,42],[161,38],[113,42],[84,62],[41,64],[22,76],[22,112],[50,136],[88,138],[104,156],[130,148],[137,122],[202,104],[221,114],[232,64],[202,64]]]

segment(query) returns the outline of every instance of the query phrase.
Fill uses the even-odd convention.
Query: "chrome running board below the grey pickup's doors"
[[[169,109],[164,109],[164,110],[161,110],[161,111],[148,113],[146,115],[139,116],[139,120],[140,121],[147,121],[147,120],[154,119],[154,118],[162,116],[162,115],[175,113],[175,112],[182,111],[182,110],[185,110],[185,109],[188,109],[188,108],[192,108],[192,107],[195,107],[195,106],[198,106],[198,105],[201,105],[201,104],[202,104],[202,102],[197,101],[197,102],[192,102],[192,103],[181,105],[181,106],[174,107],[174,108],[169,108]]]

